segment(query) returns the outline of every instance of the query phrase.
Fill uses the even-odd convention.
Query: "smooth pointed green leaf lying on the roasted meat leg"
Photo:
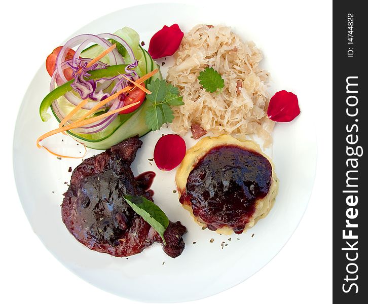
[[[166,246],[164,232],[169,225],[169,219],[164,211],[142,196],[124,194],[123,197],[129,206],[157,231]]]

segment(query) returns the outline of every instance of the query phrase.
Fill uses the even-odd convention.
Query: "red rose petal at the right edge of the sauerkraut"
[[[297,95],[285,90],[277,92],[270,99],[267,116],[279,123],[288,123],[300,114]]]

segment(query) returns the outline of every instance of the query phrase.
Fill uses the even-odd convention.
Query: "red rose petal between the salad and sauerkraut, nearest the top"
[[[164,25],[150,41],[148,52],[153,59],[171,56],[179,48],[184,33],[176,23],[170,27]]]

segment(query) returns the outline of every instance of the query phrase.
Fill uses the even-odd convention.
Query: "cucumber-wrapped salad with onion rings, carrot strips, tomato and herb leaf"
[[[170,106],[182,103],[129,27],[73,37],[47,57],[46,69],[50,93],[41,102],[40,117],[47,122],[51,109],[59,128],[40,136],[39,147],[46,148],[40,145],[46,137],[66,132],[87,147],[107,149],[160,129],[172,121]]]

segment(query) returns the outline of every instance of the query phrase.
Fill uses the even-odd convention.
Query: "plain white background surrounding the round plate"
[[[107,13],[151,2],[154,1],[63,0],[13,1],[5,7],[2,4],[1,130],[5,155],[0,186],[0,301],[3,303],[134,303],[101,291],[71,274],[32,232],[14,184],[12,137],[28,84],[47,55],[65,37]],[[243,10],[244,18],[250,13],[261,17],[262,10],[273,12],[275,20],[288,24],[280,28],[280,47],[299,32],[305,35],[305,48],[310,49],[310,57],[301,60],[310,61],[315,69],[315,78],[309,80],[310,90],[315,92],[315,100],[310,102],[316,107],[318,130],[315,186],[298,229],[272,261],[242,284],[195,302],[329,303],[332,302],[332,2],[309,1],[299,5],[295,1],[263,1],[255,6],[256,10],[254,3],[255,0],[211,1],[208,13],[224,5]],[[183,288],[190,289],[190,282]]]

